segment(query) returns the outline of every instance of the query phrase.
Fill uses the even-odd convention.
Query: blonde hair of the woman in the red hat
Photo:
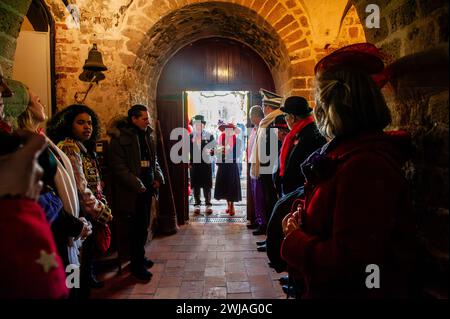
[[[317,126],[329,138],[382,131],[391,123],[391,113],[380,89],[359,70],[320,74],[315,100]]]

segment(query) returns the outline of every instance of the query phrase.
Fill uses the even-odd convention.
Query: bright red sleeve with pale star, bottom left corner
[[[0,298],[66,298],[66,275],[42,208],[0,200]]]

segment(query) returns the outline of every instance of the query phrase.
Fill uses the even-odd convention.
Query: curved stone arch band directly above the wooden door
[[[255,11],[214,2],[173,11],[145,34],[133,65],[134,76],[145,83],[145,90],[136,92],[136,98],[142,99],[139,95],[144,94],[149,104],[154,104],[156,84],[166,61],[185,45],[208,37],[229,38],[251,47],[269,66],[277,90],[287,90],[289,54],[275,29]]]

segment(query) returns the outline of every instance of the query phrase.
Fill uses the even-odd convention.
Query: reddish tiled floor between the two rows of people
[[[256,251],[245,224],[199,224],[177,234],[155,238],[147,257],[155,262],[149,283],[137,282],[128,267],[99,276],[105,287],[93,298],[136,299],[273,299],[286,298],[278,274],[268,267],[266,253]]]

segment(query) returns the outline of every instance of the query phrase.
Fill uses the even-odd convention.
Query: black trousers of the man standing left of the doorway
[[[152,196],[153,194],[148,191],[139,194],[134,214],[129,219],[130,261],[132,267],[140,267],[144,262]]]

